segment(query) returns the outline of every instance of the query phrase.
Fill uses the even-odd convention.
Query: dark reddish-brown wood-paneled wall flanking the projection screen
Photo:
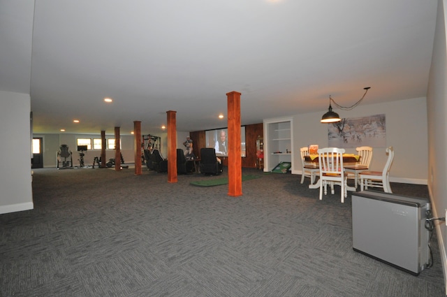
[[[263,123],[245,126],[245,150],[247,157],[242,158],[242,167],[256,168],[256,140],[258,136],[263,137]],[[190,132],[193,140],[193,152],[200,157],[200,148],[206,147],[205,131]],[[222,158],[223,166],[228,166],[227,158]]]

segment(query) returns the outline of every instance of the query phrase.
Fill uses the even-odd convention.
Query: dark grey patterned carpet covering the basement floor
[[[35,170],[35,209],[0,215],[0,296],[444,296],[436,234],[415,277],[353,252],[351,194],[243,173],[234,198],[189,184],[221,176]]]

